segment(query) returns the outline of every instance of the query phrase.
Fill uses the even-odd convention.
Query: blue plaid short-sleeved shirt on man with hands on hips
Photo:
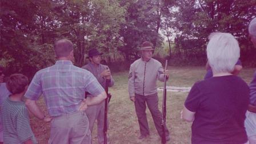
[[[25,97],[37,101],[43,94],[49,114],[58,116],[77,111],[85,91],[99,95],[104,89],[89,71],[71,61],[57,61],[35,74]]]

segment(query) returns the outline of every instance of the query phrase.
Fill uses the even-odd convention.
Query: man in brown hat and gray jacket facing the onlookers
[[[137,59],[130,66],[129,71],[129,95],[134,102],[135,111],[138,117],[141,135],[144,139],[149,135],[149,125],[146,117],[146,103],[153,117],[157,132],[162,137],[161,112],[158,109],[157,79],[164,81],[164,75],[169,77],[169,71],[163,70],[160,62],[152,58],[153,44],[143,42],[141,46],[140,59]],[[170,140],[169,130],[165,127],[166,141]]]

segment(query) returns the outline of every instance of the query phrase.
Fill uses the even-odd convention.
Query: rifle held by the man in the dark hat
[[[103,127],[103,133],[104,133],[104,144],[107,144],[107,108],[109,103],[109,82],[110,79],[106,79],[106,85],[105,85],[105,91],[107,94],[107,98],[105,99],[105,110],[104,110],[104,127]]]

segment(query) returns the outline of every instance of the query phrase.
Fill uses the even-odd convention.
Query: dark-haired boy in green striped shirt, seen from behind
[[[12,74],[6,83],[11,95],[2,104],[3,143],[37,143],[22,102],[28,84],[23,74]]]

